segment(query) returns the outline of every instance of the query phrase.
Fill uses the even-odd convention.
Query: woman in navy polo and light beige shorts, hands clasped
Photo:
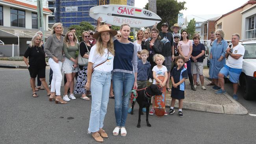
[[[206,90],[206,88],[204,87],[204,76],[203,76],[203,55],[205,54],[205,47],[204,44],[199,43],[200,41],[200,37],[198,36],[194,36],[193,37],[193,50],[192,50],[192,54],[191,54],[191,71],[193,74],[193,79],[194,79],[194,87],[195,89],[197,89],[197,74],[199,74],[199,78],[202,84],[202,89]]]

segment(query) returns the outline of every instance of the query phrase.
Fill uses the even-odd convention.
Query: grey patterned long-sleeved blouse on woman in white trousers
[[[55,33],[50,35],[45,42],[45,54],[50,57],[57,57],[59,61],[64,59],[62,54],[64,37],[60,36],[60,40],[56,37]]]

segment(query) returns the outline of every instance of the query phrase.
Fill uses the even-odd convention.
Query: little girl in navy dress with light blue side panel
[[[187,76],[187,69],[184,68],[185,58],[182,56],[178,56],[176,58],[177,67],[173,68],[173,71],[171,72],[171,80],[173,83],[172,86],[172,93],[171,93],[171,107],[170,107],[170,114],[173,114],[174,111],[174,104],[175,100],[179,100],[179,112],[178,115],[180,117],[183,117],[182,113],[182,106],[183,106],[183,100],[185,98],[184,91],[185,91],[185,80],[188,78]]]

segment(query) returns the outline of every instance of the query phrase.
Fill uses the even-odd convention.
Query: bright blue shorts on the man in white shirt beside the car
[[[241,72],[242,69],[230,68],[229,66],[224,65],[224,67],[221,68],[219,73],[223,74],[225,77],[229,75],[229,81],[231,81],[232,83],[238,83]]]

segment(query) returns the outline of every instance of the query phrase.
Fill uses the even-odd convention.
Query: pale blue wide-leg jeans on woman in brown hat
[[[111,72],[93,71],[91,77],[91,115],[88,133],[99,131],[103,127],[107,113]]]

